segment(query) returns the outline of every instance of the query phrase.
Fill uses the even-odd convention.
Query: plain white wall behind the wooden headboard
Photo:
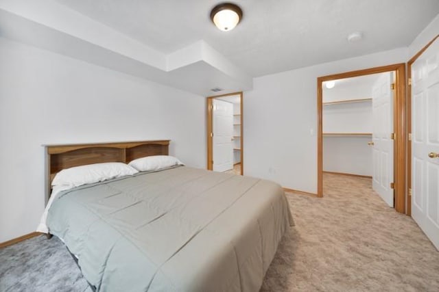
[[[35,230],[42,144],[170,139],[204,168],[204,97],[0,38],[0,242]]]

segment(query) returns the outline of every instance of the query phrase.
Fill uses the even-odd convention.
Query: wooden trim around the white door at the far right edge
[[[407,62],[407,189],[412,189],[412,141],[409,140],[408,135],[408,133],[412,133],[412,83],[409,82],[412,78],[412,64],[420,55],[422,55],[422,53],[424,53],[425,50],[428,49],[428,47],[430,47],[431,44],[434,43],[437,38],[439,38],[439,34]],[[410,196],[407,196],[407,215],[412,215],[411,194]]]

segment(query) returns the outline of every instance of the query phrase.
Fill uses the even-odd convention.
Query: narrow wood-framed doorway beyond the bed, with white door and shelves
[[[207,98],[207,169],[244,174],[242,92]]]

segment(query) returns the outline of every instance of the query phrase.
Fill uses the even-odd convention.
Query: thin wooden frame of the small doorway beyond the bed
[[[244,116],[243,116],[243,97],[244,94],[242,92],[233,92],[228,94],[221,94],[221,95],[215,95],[215,96],[208,96],[206,98],[206,107],[207,107],[207,169],[213,170],[213,113],[212,113],[212,101],[214,98],[218,97],[224,97],[224,96],[233,96],[233,95],[239,95],[240,96],[240,121],[241,121],[241,175],[244,175]],[[233,154],[235,155],[235,154]]]

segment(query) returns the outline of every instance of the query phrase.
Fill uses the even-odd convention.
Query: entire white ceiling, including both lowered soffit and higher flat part
[[[407,47],[439,12],[439,0],[235,0],[244,18],[225,32],[209,18],[217,3],[0,0],[0,37],[213,96],[252,90],[253,77]],[[349,43],[353,31],[364,39]]]

